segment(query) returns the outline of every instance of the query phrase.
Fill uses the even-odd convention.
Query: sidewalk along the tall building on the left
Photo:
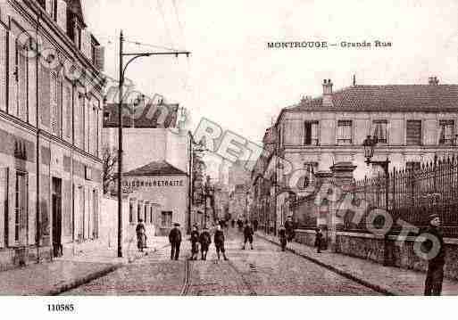
[[[166,237],[154,238],[157,238],[154,245],[144,253],[128,245],[123,258],[117,258],[117,250],[93,249],[71,257],[54,258],[49,263],[0,272],[0,295],[50,296],[69,291],[167,246]]]

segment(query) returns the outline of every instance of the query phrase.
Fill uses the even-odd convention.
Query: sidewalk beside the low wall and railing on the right
[[[279,245],[277,237],[260,232],[256,235]],[[287,250],[387,295],[423,295],[426,274],[418,271],[385,267],[370,260],[329,251],[317,253],[315,248],[297,242],[287,243]],[[444,279],[442,295],[458,295],[458,282]]]

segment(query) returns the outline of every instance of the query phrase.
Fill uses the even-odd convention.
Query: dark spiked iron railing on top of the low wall
[[[352,222],[353,214],[346,214],[346,230],[366,231],[370,209],[379,208],[386,209],[393,219],[391,233],[401,230],[397,223],[401,220],[420,229],[428,226],[429,215],[437,213],[444,234],[458,237],[458,157],[455,155],[435,158],[420,168],[395,168],[387,176],[355,181],[353,193],[357,201],[366,201],[368,210],[358,224]],[[383,218],[379,224],[384,224]]]

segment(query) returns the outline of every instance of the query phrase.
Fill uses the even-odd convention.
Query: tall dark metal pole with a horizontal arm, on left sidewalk
[[[118,105],[118,257],[122,258],[122,100],[123,92],[122,87],[124,86],[124,77],[126,74],[127,67],[129,64],[140,57],[150,57],[152,55],[170,55],[173,54],[176,57],[179,54],[186,54],[188,57],[191,54],[188,51],[176,51],[166,53],[123,53],[122,48],[124,44],[124,36],[122,30],[120,34],[120,86],[119,86],[119,105]],[[129,61],[124,65],[122,59],[124,56],[129,56]]]

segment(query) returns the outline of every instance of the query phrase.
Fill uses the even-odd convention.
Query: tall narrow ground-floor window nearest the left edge
[[[27,175],[16,172],[16,185],[14,193],[14,241],[21,242],[26,236],[23,234],[27,217]],[[25,243],[21,243],[25,244]]]

